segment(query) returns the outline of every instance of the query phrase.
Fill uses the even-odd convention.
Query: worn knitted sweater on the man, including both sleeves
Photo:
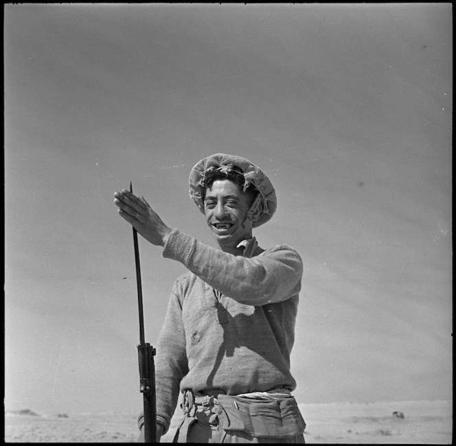
[[[157,346],[157,421],[165,432],[179,390],[238,395],[296,387],[290,351],[301,257],[286,245],[251,255],[224,253],[177,229],[170,233],[163,257],[190,271],[172,287]]]

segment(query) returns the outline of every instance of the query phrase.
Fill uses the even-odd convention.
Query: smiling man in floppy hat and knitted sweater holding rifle
[[[119,214],[188,269],[174,283],[157,345],[159,436],[180,391],[175,442],[304,443],[290,395],[302,261],[290,246],[260,248],[252,235],[275,212],[274,187],[247,159],[214,154],[193,167],[190,197],[219,248],[168,227],[144,198],[115,193]]]

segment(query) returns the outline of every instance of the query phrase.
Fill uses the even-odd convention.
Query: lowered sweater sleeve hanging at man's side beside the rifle
[[[178,279],[171,292],[155,361],[157,422],[165,428],[163,434],[168,432],[179,398],[179,384],[188,372],[182,303],[179,296],[181,292]]]

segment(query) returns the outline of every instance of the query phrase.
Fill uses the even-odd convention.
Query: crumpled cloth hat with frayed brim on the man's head
[[[190,198],[195,202],[198,209],[204,213],[203,192],[206,175],[209,172],[214,172],[214,169],[219,169],[221,172],[229,172],[233,167],[238,167],[242,171],[245,180],[244,189],[249,184],[252,184],[260,193],[259,200],[262,210],[257,220],[253,222],[253,227],[256,228],[271,220],[275,209],[277,209],[277,196],[271,180],[260,167],[254,165],[248,159],[242,158],[242,156],[217,153],[198,161],[190,172],[188,181]]]

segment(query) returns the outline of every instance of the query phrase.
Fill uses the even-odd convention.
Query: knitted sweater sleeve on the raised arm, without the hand
[[[286,245],[246,258],[224,253],[173,229],[163,257],[180,261],[225,296],[247,305],[284,301],[301,288],[301,257]]]

